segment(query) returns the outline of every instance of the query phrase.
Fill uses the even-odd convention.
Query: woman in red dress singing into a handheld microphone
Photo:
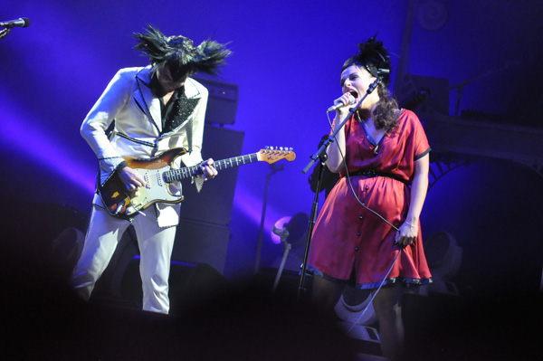
[[[387,90],[391,67],[383,43],[374,36],[358,47],[343,64],[343,95],[335,103],[349,104],[354,97],[358,104],[381,80],[327,149],[327,166],[341,178],[312,235],[312,299],[331,311],[349,280],[360,289],[380,288],[373,305],[381,348],[383,356],[397,360],[403,355],[403,287],[431,281],[419,222],[430,147],[416,115],[399,109]],[[336,109],[334,126],[350,110]]]

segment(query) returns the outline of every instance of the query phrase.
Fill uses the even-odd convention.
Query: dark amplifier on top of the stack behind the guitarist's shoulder
[[[238,101],[237,84],[208,79],[203,76],[194,78],[196,81],[202,83],[209,91],[205,122],[233,125]]]

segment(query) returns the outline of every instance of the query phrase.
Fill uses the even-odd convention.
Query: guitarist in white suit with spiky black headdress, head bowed
[[[148,55],[151,64],[119,70],[81,126],[81,135],[99,158],[100,169],[89,230],[71,285],[89,299],[122,234],[132,224],[141,256],[143,309],[168,313],[170,257],[180,204],[157,202],[141,207],[132,199],[133,204],[123,201],[123,207],[116,206],[112,212],[102,201],[100,189],[116,178],[126,191],[138,193],[149,180],[126,159],[160,157],[174,148],[185,150],[173,159],[172,166],[178,168],[181,162],[199,166],[192,177],[198,190],[205,179],[217,175],[213,159],[203,161],[201,156],[208,91],[190,77],[198,71],[215,75],[231,52],[211,40],[196,47],[186,37],[166,37],[151,26],[135,37],[136,49]],[[176,189],[174,182],[168,189],[180,193],[178,186]]]

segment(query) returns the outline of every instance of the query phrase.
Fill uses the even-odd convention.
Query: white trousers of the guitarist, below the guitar
[[[140,253],[143,309],[168,313],[168,277],[176,227],[158,227],[154,206],[148,207],[144,214],[146,216],[138,214],[129,223],[111,216],[99,206],[93,206],[83,251],[71,275],[71,286],[83,299],[90,299],[90,293],[110,263],[122,234],[133,224]]]

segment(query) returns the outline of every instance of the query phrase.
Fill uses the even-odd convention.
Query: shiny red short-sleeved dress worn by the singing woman
[[[397,231],[388,224],[398,228],[405,222],[414,161],[430,151],[420,121],[413,112],[402,110],[395,131],[378,145],[367,139],[362,124],[354,118],[345,132],[349,174],[371,170],[385,176],[350,176],[353,194],[348,178],[342,175],[315,224],[308,269],[330,280],[349,280],[353,275],[362,289],[377,288],[385,279],[384,284],[431,281],[420,224],[417,239],[404,249],[395,245]]]

